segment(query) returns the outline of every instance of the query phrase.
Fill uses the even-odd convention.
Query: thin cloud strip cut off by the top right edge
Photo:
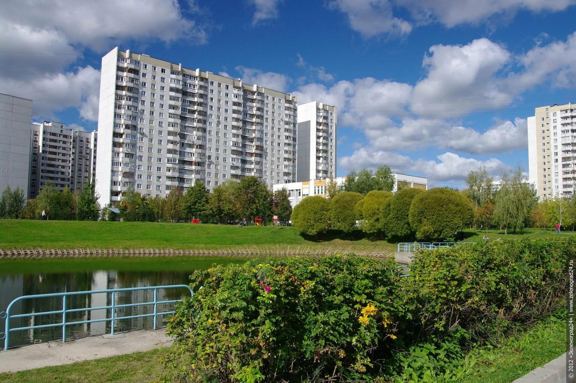
[[[558,12],[566,9],[574,0],[396,0],[406,7],[420,23],[439,21],[452,28],[459,24],[478,24],[488,18],[501,15],[512,17],[519,10],[530,12]]]

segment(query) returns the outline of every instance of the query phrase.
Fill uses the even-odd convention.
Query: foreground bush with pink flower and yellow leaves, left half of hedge
[[[400,279],[394,264],[293,257],[196,271],[196,293],[168,321],[177,340],[165,380],[366,378],[374,351],[395,342],[391,323],[406,305],[393,293]]]

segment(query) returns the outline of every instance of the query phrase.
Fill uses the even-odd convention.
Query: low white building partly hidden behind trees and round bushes
[[[426,177],[410,176],[400,173],[392,173],[395,177],[394,188],[392,192],[396,192],[399,188],[419,188],[423,190],[428,189],[428,179]],[[338,185],[343,185],[346,182],[346,177],[338,177],[333,179]],[[296,206],[303,198],[311,195],[326,196],[326,186],[330,180],[310,180],[302,182],[292,182],[287,184],[274,185],[272,188],[274,192],[286,189],[290,198],[292,207]]]

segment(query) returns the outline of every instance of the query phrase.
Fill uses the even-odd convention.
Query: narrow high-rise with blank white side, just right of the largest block
[[[336,177],[336,107],[298,105],[296,181]]]

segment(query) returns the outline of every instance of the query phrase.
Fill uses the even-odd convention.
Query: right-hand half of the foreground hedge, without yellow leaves
[[[410,278],[424,331],[456,326],[477,339],[504,335],[563,307],[576,238],[496,241],[416,253]]]

